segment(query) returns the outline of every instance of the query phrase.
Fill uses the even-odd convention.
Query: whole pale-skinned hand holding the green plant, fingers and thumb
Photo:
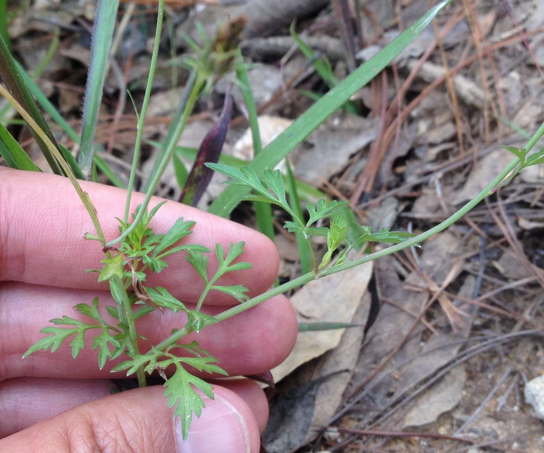
[[[104,185],[84,183],[98,211],[106,238],[118,233],[126,193]],[[143,195],[132,197],[132,212]],[[151,201],[150,207],[160,202]],[[279,258],[274,245],[252,229],[200,210],[169,201],[152,220],[154,231],[166,232],[183,217],[196,221],[187,240],[213,249],[221,243],[244,240],[241,257],[254,268],[227,274],[221,284],[243,284],[250,295],[263,293],[273,283]],[[258,453],[259,432],[268,418],[268,404],[258,385],[249,380],[214,384],[215,400],[206,399],[200,419],[193,418],[186,443],[163,398],[162,386],[110,395],[110,373],[122,358],[98,369],[90,342],[76,359],[65,344],[57,352],[21,356],[40,339],[48,320],[66,314],[82,315],[76,303],[98,296],[105,319],[106,305],[115,305],[107,286],[96,281],[103,258],[100,244],[83,234],[92,223],[67,178],[0,167],[0,451],[34,452],[212,452]],[[211,269],[215,260],[210,257]],[[188,305],[195,303],[201,280],[182,254],[169,257],[169,267],[150,278]],[[233,300],[218,293],[208,297],[205,311],[217,314]],[[115,322],[112,320],[112,324]],[[181,314],[155,311],[137,320],[138,331],[149,340],[140,350],[168,337],[184,325]],[[231,376],[263,373],[285,359],[296,338],[296,319],[284,296],[277,296],[218,325],[190,335],[219,358]]]

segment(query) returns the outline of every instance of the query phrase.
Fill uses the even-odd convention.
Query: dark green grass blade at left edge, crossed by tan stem
[[[2,39],[0,35],[0,76],[7,86],[8,90],[13,94],[15,100],[21,104],[21,106],[30,114],[32,119],[38,124],[40,129],[44,131],[47,135],[47,138],[51,140],[53,145],[58,149],[57,141],[55,141],[53,134],[49,130],[47,123],[44,120],[44,117],[41,116],[40,109],[36,105],[32,94],[24,83],[24,80],[21,76],[21,73],[17,69],[15,59],[9,52],[8,45]],[[57,159],[53,157],[53,154],[45,144],[45,142],[40,138],[40,136],[30,128],[36,143],[40,147],[41,152],[44,154],[47,163],[50,165],[53,172],[57,175],[64,175],[63,170],[61,169]]]

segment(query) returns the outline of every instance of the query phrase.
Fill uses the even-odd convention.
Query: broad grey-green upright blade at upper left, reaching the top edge
[[[102,102],[104,78],[106,78],[109,49],[112,45],[113,29],[119,0],[98,0],[95,26],[92,32],[91,63],[83,102],[83,129],[78,163],[86,178],[91,175],[93,142],[95,139],[98,110]]]

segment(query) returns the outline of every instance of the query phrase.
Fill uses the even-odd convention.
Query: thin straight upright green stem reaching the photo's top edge
[[[134,188],[134,177],[136,175],[136,169],[138,168],[138,162],[140,160],[140,146],[141,137],[144,132],[145,114],[147,112],[147,105],[149,104],[149,98],[151,97],[151,89],[153,87],[153,78],[155,76],[155,69],[157,67],[157,55],[159,53],[160,33],[163,28],[163,14],[164,14],[164,0],[159,0],[159,9],[157,13],[157,27],[155,29],[155,42],[153,44],[153,53],[151,54],[151,65],[149,69],[149,76],[147,77],[147,85],[145,87],[144,102],[141,106],[140,116],[138,118],[138,126],[136,132],[136,142],[134,144],[134,157],[132,158],[131,176],[128,178],[127,186],[127,201],[125,203],[125,216],[123,220],[128,222],[129,209],[131,207],[132,189]]]

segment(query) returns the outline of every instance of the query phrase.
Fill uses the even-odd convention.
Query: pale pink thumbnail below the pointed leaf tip
[[[200,418],[193,414],[187,440],[183,441],[180,417],[174,420],[177,453],[250,453],[248,426],[242,414],[226,399],[205,400]]]

